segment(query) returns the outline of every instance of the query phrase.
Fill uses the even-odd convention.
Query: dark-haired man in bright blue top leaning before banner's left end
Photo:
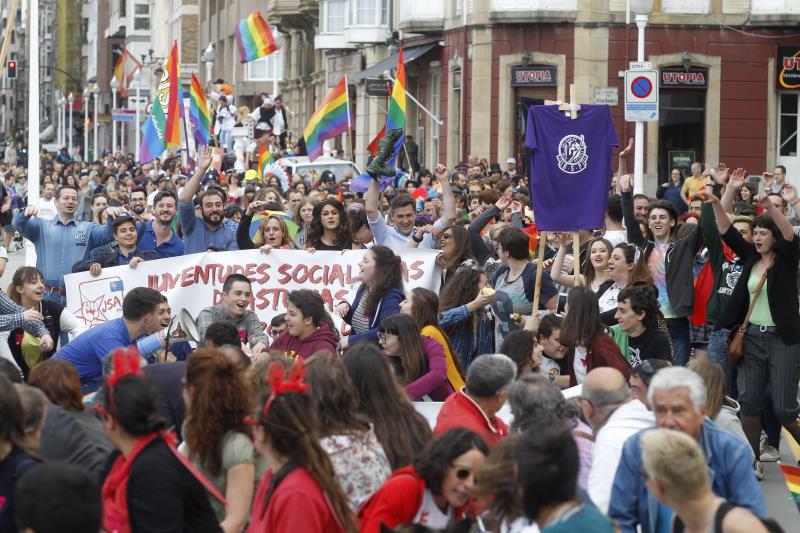
[[[103,359],[117,348],[125,348],[140,337],[161,330],[158,313],[161,293],[136,287],[122,301],[122,318],[109,320],[75,337],[53,359],[63,359],[75,366],[84,394],[103,383]]]

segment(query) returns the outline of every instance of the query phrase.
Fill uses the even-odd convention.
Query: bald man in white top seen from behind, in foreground
[[[581,397],[583,415],[594,430],[588,492],[601,512],[608,512],[611,487],[628,437],[655,426],[653,413],[631,396],[625,376],[616,368],[595,368],[586,375]]]

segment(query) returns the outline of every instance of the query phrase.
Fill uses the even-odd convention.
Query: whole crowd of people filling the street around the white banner
[[[279,153],[265,116],[252,149]],[[800,440],[785,170],[696,163],[650,198],[629,143],[605,226],[573,240],[536,231],[514,159],[381,190],[395,139],[363,194],[203,150],[191,176],[43,154],[33,201],[0,163],[6,243],[37,254],[0,293],[0,533],[782,531],[758,481],[781,428]],[[404,286],[415,247],[438,250],[438,292]],[[265,324],[231,274],[192,344],[150,288],[89,329],[65,308],[72,272],[256,248],[361,250],[359,287],[291,291]]]

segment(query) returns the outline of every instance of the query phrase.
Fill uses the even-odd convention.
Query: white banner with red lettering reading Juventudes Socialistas
[[[328,312],[342,328],[333,307],[352,302],[360,282],[358,267],[367,250],[345,252],[258,250],[206,252],[170,257],[128,266],[104,268],[99,276],[89,272],[64,277],[67,309],[88,328],[122,316],[122,300],[134,287],[150,287],[164,294],[173,314],[187,309],[192,317],[222,301],[222,284],[233,273],[247,276],[253,284],[250,304],[264,323],[286,311],[286,295],[296,289],[319,292]],[[439,292],[441,269],[438,250],[407,248],[400,251],[405,289],[425,287]],[[380,265],[378,265],[380,268]]]

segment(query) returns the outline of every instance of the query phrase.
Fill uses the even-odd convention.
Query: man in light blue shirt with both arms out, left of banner
[[[56,192],[56,218],[41,220],[37,209],[28,206],[14,217],[14,227],[36,248],[36,267],[44,276],[46,298],[66,304],[64,276],[72,273],[72,265],[87,257],[89,251],[113,240],[110,225],[75,220],[78,190],[64,185]],[[109,208],[109,218],[117,215]]]

